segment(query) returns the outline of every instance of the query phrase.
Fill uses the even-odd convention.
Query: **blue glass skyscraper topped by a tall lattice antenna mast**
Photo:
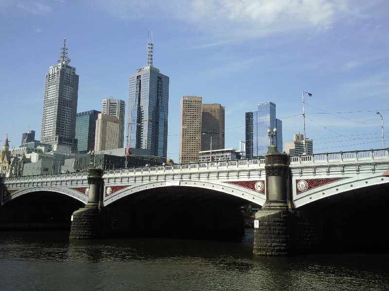
[[[152,156],[167,156],[169,77],[153,66],[153,41],[147,44],[147,65],[129,76],[128,145],[150,149]]]

